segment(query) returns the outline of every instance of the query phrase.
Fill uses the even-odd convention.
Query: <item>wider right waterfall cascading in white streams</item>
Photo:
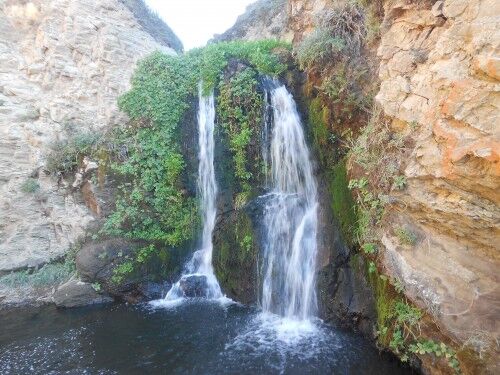
[[[316,312],[317,186],[292,95],[271,90],[270,189],[264,208],[264,312],[306,320]]]

